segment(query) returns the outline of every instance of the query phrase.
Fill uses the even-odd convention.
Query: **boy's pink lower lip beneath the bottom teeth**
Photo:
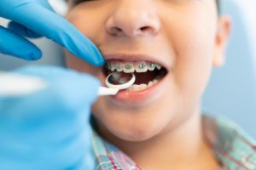
[[[166,77],[163,77],[159,82],[154,84],[153,86],[140,90],[140,91],[131,91],[128,89],[120,90],[118,94],[114,96],[109,96],[111,99],[117,100],[119,102],[129,102],[129,103],[138,103],[152,99],[152,97],[156,97],[160,94],[161,89],[166,82]],[[102,73],[102,82],[105,84],[105,75]]]

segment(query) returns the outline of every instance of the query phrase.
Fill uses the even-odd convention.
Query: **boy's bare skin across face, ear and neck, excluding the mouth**
[[[165,87],[148,103],[97,99],[98,133],[148,170],[218,167],[201,127],[201,95],[212,68],[224,64],[230,34],[230,18],[218,17],[215,1],[69,3],[67,20],[102,54],[150,54],[168,70]],[[68,52],[66,58],[69,68],[100,77],[101,68]]]

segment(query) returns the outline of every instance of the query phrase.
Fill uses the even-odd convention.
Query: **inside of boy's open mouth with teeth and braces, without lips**
[[[123,71],[135,75],[136,81],[128,88],[129,91],[142,91],[150,88],[160,82],[167,74],[164,66],[154,62],[109,59],[103,68],[103,73],[108,77],[113,71]]]

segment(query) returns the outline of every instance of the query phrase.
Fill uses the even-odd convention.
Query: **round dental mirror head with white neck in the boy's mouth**
[[[115,95],[119,92],[119,90],[130,88],[135,80],[136,77],[133,73],[115,71],[108,75],[108,77],[106,78],[105,83],[108,88],[101,87],[98,94]]]

